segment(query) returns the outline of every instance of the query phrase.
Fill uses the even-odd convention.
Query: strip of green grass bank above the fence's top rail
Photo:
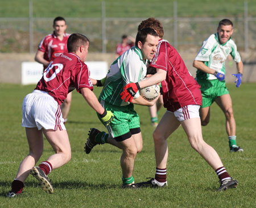
[[[34,17],[54,18],[62,15],[66,18],[101,18],[100,0],[32,0]],[[173,16],[174,0],[105,0],[106,17],[108,18],[170,18]],[[243,16],[243,1],[236,0],[184,0],[177,2],[177,15],[181,17],[218,17]],[[255,0],[247,0],[250,16],[256,15]],[[1,17],[22,17],[29,14],[28,0],[0,0]],[[51,6],[49,6],[51,5]]]

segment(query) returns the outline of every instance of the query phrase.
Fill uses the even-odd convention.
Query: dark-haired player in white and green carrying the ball
[[[95,145],[110,143],[122,149],[122,188],[137,188],[134,185],[133,168],[135,157],[142,150],[142,133],[139,115],[134,111],[134,104],[151,106],[155,100],[147,101],[134,94],[134,100],[121,100],[123,87],[130,82],[139,82],[146,77],[147,60],[151,60],[158,45],[158,35],[151,28],[144,28],[136,36],[135,46],[127,50],[110,66],[109,73],[100,94],[101,105],[114,114],[113,122],[106,126],[108,134],[92,128],[85,143],[85,152],[89,154]]]

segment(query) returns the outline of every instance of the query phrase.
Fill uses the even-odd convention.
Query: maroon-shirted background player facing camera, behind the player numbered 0
[[[53,20],[53,33],[47,35],[42,39],[38,45],[38,51],[35,54],[35,61],[42,63],[44,70],[47,68],[49,62],[60,56],[61,53],[68,52],[67,40],[70,34],[66,33],[66,20],[57,16]],[[64,121],[67,121],[68,112],[71,107],[72,92],[68,94],[67,99],[61,104],[61,111]]]

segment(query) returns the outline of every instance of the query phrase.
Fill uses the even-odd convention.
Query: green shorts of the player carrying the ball
[[[119,137],[129,133],[130,129],[140,128],[139,115],[134,111],[133,104],[117,106],[104,103],[102,100],[100,103],[103,104],[106,111],[111,111],[114,114],[114,120],[106,126],[110,137]]]

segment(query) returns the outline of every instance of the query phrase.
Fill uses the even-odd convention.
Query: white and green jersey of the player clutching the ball
[[[110,66],[100,99],[112,105],[129,105],[129,102],[121,99],[123,87],[128,83],[143,80],[146,74],[146,61],[143,60],[142,52],[137,46],[133,46]],[[135,94],[134,99],[138,97],[139,92]]]

